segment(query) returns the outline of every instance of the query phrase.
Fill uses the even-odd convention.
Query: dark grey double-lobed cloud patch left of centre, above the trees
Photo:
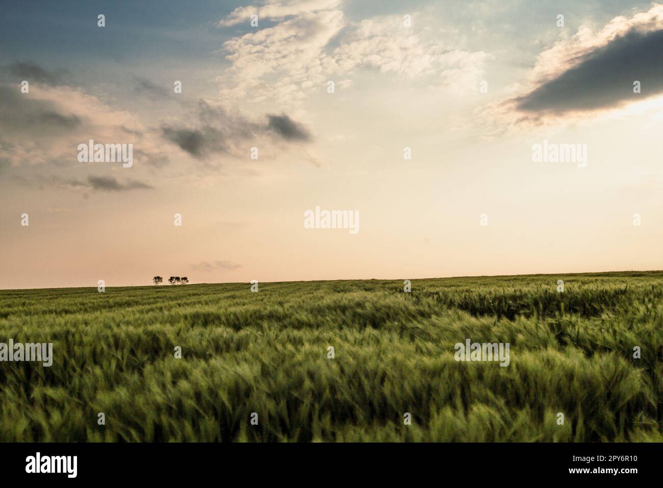
[[[196,119],[194,126],[164,124],[161,133],[164,139],[175,143],[182,151],[197,159],[206,159],[213,153],[237,155],[239,145],[260,137],[285,142],[311,140],[310,131],[286,114],[269,115],[266,123],[259,123],[239,113],[200,101]]]

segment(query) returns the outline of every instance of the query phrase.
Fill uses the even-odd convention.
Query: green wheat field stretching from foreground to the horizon
[[[402,280],[4,290],[0,342],[53,343],[54,359],[0,363],[0,440],[663,442],[662,284],[620,272],[412,280],[411,293]],[[468,338],[510,343],[511,363],[455,361]]]

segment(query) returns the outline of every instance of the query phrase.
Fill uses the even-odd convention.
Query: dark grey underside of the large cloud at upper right
[[[640,81],[642,92],[633,93]],[[663,31],[635,29],[579,58],[557,78],[512,100],[522,112],[613,108],[663,92]]]

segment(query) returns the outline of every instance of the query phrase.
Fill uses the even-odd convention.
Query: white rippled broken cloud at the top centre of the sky
[[[288,5],[294,9],[294,3],[301,4],[302,9],[309,4]],[[331,10],[337,2],[310,4],[316,8],[223,44],[229,52],[226,58],[233,63],[224,76],[217,78],[223,98],[301,103],[328,80],[348,76],[360,67],[410,80],[434,76],[437,80],[432,86],[466,90],[469,84],[478,82],[483,63],[490,57],[482,51],[423,39],[420,33],[427,30],[405,27],[400,15],[374,17],[347,26],[343,12]],[[331,48],[337,37],[339,45]],[[340,88],[350,84],[350,79],[339,80]]]

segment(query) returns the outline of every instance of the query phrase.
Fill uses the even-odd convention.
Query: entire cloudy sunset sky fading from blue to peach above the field
[[[663,269],[662,4],[4,0],[0,46],[2,289]]]

